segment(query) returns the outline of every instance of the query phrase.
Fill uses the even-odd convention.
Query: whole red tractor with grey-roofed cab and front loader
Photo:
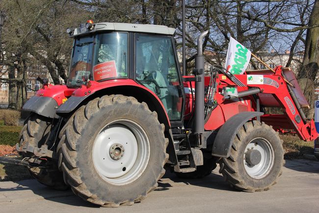
[[[263,191],[285,162],[279,131],[318,137],[289,68],[232,75],[214,66],[205,74],[207,31],[192,76],[181,76],[175,29],[88,22],[67,32],[74,38],[68,82],[45,79],[27,101],[16,146],[40,183],[117,207],[143,200],[164,168],[201,178],[219,163],[235,188]]]

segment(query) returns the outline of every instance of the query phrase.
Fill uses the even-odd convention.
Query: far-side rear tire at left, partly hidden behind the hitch
[[[47,143],[48,138],[55,136],[57,133],[51,132],[52,119],[32,114],[25,122],[20,133],[20,145],[28,142],[30,146],[40,148]],[[58,140],[58,139],[56,139]],[[29,158],[30,162],[35,157],[30,152],[20,152],[24,157]],[[38,182],[58,190],[65,190],[68,186],[63,181],[63,174],[58,171],[57,163],[52,159],[48,159],[45,163],[49,168],[43,167],[27,167],[31,177]]]

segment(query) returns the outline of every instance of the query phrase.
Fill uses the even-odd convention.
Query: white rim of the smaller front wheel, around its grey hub
[[[245,159],[248,150],[257,150],[261,154],[261,160],[256,165],[250,165]],[[271,144],[265,138],[255,138],[251,140],[243,153],[243,163],[247,174],[255,179],[262,179],[269,174],[273,167],[274,151]]]

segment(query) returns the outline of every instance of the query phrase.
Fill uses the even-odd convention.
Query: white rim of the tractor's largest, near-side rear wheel
[[[116,149],[117,152],[112,152]],[[116,120],[104,126],[95,138],[92,159],[96,171],[116,185],[134,182],[150,158],[150,142],[136,122]]]

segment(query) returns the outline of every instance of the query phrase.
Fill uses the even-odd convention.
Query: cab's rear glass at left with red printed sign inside
[[[93,49],[94,56],[92,56]],[[110,32],[97,34],[95,38],[77,39],[68,85],[84,84],[83,75],[88,75],[89,79],[94,81],[127,77],[127,53],[128,33],[126,32]]]

